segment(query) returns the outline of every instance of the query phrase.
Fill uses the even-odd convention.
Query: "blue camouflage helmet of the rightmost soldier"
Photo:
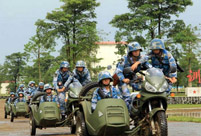
[[[163,41],[161,39],[153,39],[150,43],[150,50],[164,50],[165,49],[165,45],[163,43]]]

